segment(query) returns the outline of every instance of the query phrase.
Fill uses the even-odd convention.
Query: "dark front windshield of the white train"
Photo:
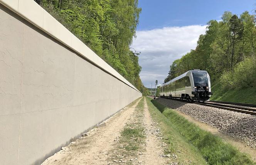
[[[208,86],[207,72],[196,71],[192,72],[195,86]]]

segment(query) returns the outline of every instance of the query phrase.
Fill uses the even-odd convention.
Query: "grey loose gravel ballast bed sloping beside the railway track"
[[[256,148],[256,116],[171,99],[158,101]]]

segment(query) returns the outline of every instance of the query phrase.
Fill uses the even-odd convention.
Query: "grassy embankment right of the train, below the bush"
[[[212,85],[211,100],[256,104],[256,88],[235,88],[223,91],[220,82],[215,81],[212,84],[214,85]]]

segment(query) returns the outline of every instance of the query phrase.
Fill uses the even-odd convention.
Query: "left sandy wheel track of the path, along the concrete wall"
[[[93,129],[89,136],[78,139],[42,164],[108,164],[109,152],[114,150],[114,139],[120,136],[139,101],[106,121],[106,126]]]

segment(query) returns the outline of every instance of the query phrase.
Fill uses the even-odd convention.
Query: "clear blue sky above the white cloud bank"
[[[221,19],[225,11],[253,13],[255,3],[256,0],[139,0],[142,12],[137,30],[206,24]]]

